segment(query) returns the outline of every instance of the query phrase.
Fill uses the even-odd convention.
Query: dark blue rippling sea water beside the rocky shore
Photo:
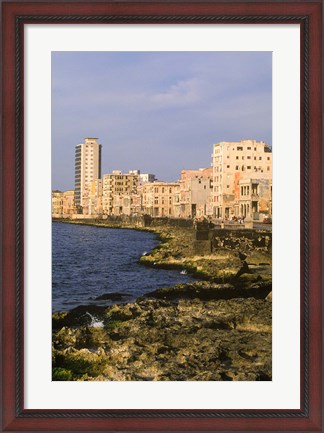
[[[152,233],[76,224],[52,224],[52,309],[109,305],[95,301],[107,293],[130,302],[159,287],[192,280],[179,271],[147,268],[140,256],[158,244]]]

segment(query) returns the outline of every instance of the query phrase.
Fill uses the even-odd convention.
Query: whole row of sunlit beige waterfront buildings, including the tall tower
[[[141,180],[136,169],[113,170],[99,179],[94,172],[100,150],[96,138],[76,146],[75,190],[52,192],[54,218],[149,215],[250,222],[272,215],[272,151],[263,141],[215,143],[211,167],[182,170],[178,182],[148,181],[152,175]]]

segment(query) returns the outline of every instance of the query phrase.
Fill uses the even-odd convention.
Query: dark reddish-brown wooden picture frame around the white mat
[[[322,353],[323,1],[2,2],[2,431],[324,431]],[[44,17],[47,17],[46,20]],[[24,410],[23,25],[299,23],[301,44],[300,410]],[[216,17],[216,21],[215,21]],[[218,21],[218,18],[219,21]],[[288,311],[288,309],[287,309]],[[289,342],[287,342],[289,344]]]

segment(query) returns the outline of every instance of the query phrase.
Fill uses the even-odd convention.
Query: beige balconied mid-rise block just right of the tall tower
[[[105,174],[102,182],[102,210],[106,215],[130,215],[137,197],[138,174],[123,174],[114,170]],[[136,202],[137,203],[137,202]]]

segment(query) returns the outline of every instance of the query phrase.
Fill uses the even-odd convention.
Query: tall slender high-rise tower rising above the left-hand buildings
[[[98,138],[87,137],[84,143],[75,146],[75,195],[74,204],[83,206],[91,182],[101,178],[101,144]]]

